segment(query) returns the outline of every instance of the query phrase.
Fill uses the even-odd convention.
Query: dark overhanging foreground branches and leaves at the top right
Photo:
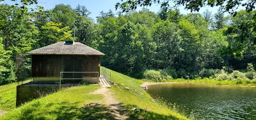
[[[215,15],[217,22],[215,24],[216,29],[223,28],[224,19],[223,12],[227,11],[232,14],[233,17],[237,15],[237,8],[239,6],[244,6],[247,12],[252,11],[255,8],[255,0],[243,1],[243,0],[221,0],[221,1],[205,1],[205,0],[181,0],[181,1],[173,1],[176,6],[183,5],[187,10],[191,11],[199,11],[200,8],[204,6],[220,6],[219,13]],[[115,8],[120,8],[123,12],[136,10],[138,6],[151,6],[152,4],[161,4],[161,8],[170,7],[170,0],[160,1],[160,0],[134,0],[134,1],[122,1],[121,3],[116,3]],[[232,44],[230,44],[229,48],[226,51],[233,53],[236,58],[243,58],[243,53],[248,50],[248,48],[254,48],[256,41],[253,39],[254,36],[250,37],[250,35],[256,32],[253,25],[256,23],[256,18],[252,18],[249,21],[244,21],[243,23],[237,25],[237,27],[231,27],[228,29],[228,32],[240,32],[239,36],[230,36],[230,40],[232,40]],[[249,28],[250,27],[250,28]],[[232,46],[232,47],[231,47]]]

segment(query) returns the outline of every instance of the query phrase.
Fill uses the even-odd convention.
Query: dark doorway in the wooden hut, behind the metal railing
[[[65,72],[82,72],[82,60],[77,58],[65,59]],[[64,83],[80,83],[82,81],[82,73],[65,73],[63,74],[64,78],[74,78],[67,79]]]

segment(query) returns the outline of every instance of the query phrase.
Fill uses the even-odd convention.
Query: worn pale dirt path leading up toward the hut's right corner
[[[100,89],[93,91],[92,94],[101,94],[104,97],[102,104],[109,108],[109,112],[115,117],[115,119],[128,119],[125,114],[125,109],[122,108],[122,103],[118,102],[109,91],[109,84],[102,83],[100,81]]]

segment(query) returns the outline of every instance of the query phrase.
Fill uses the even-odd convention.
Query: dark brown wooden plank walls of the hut
[[[60,81],[60,72],[67,72],[65,71],[65,60],[68,60],[67,63],[72,62],[72,60],[76,63],[81,63],[81,66],[76,66],[77,68],[73,67],[69,70],[100,72],[100,56],[97,55],[32,55],[33,84],[58,83]],[[73,64],[68,63],[68,65]],[[97,74],[83,74],[82,76],[97,77]]]

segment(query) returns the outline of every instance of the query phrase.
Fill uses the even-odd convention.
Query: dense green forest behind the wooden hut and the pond
[[[138,78],[155,69],[194,79],[205,77],[202,72],[207,70],[241,70],[256,63],[256,25],[250,21],[255,11],[225,17],[221,10],[213,15],[183,15],[174,8],[118,15],[109,10],[93,22],[90,11],[80,5],[58,4],[52,10],[26,11],[21,17],[20,9],[0,5],[0,85],[30,77],[26,52],[67,40],[102,51],[102,66]]]

